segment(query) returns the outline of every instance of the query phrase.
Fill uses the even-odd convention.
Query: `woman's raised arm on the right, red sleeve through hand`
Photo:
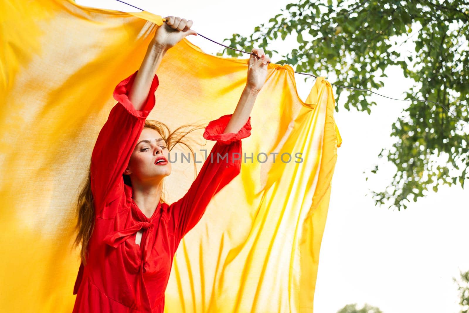
[[[246,87],[233,114],[209,122],[204,138],[216,140],[210,157],[205,160],[189,191],[169,206],[170,229],[181,239],[200,221],[210,200],[241,171],[242,138],[251,134],[250,114],[257,94],[265,83],[269,57],[262,49],[249,60]],[[221,161],[219,160],[221,158]]]

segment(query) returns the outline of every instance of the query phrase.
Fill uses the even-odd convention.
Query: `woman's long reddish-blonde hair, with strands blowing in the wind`
[[[189,130],[183,130],[189,127],[192,127],[192,128]],[[169,151],[171,151],[175,145],[182,144],[189,148],[190,152],[192,153],[192,156],[194,156],[194,151],[192,150],[188,142],[186,142],[183,139],[190,132],[194,130],[204,129],[204,127],[205,126],[203,124],[199,124],[199,125],[186,124],[181,127],[178,127],[174,131],[170,131],[169,127],[166,126],[166,124],[162,122],[158,122],[158,121],[153,121],[153,120],[145,121],[145,126],[144,126],[144,128],[150,128],[152,130],[158,131],[161,137],[165,139],[166,147],[168,148]],[[90,162],[90,166],[91,166],[91,162]],[[76,214],[77,214],[78,219],[76,223],[77,234],[76,234],[74,244],[76,247],[81,244],[80,258],[83,262],[83,265],[86,265],[88,244],[90,243],[91,234],[93,233],[94,218],[95,218],[93,195],[91,193],[90,166],[88,167],[88,175],[87,175],[86,182],[84,183],[83,188],[80,191],[80,194],[76,202]],[[194,177],[195,176],[197,176],[197,166],[194,162]],[[130,177],[128,175],[122,174],[122,178],[125,184],[132,186],[132,183],[130,182]],[[164,189],[165,187],[164,187],[164,181],[163,181],[163,190]],[[164,195],[164,192],[162,191],[161,201],[166,202],[164,200],[163,195]]]

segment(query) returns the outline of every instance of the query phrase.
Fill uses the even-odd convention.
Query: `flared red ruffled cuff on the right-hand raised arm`
[[[204,131],[204,138],[207,140],[216,140],[220,145],[229,145],[235,140],[249,137],[251,135],[251,117],[237,133],[223,133],[231,116],[233,114],[223,115],[220,118],[208,123]]]

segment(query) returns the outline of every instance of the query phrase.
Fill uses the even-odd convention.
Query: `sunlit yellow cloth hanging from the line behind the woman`
[[[138,69],[153,23],[162,20],[71,0],[0,3],[0,307],[71,312],[79,266],[71,245],[79,186],[115,105],[113,88]],[[205,54],[184,39],[157,71],[157,105],[148,119],[174,129],[233,113],[247,63]],[[341,143],[333,109],[333,91],[323,77],[303,102],[293,69],[269,65],[251,114],[252,134],[243,141],[253,163],[242,162],[241,174],[183,239],[165,312],[312,312]],[[203,145],[202,130],[193,138],[200,160],[199,149],[210,151],[213,143]],[[180,149],[173,151],[187,155]],[[263,153],[279,154],[275,162],[272,154],[264,162]],[[290,162],[280,160],[282,153],[291,154]],[[295,153],[302,153],[302,162],[295,162]],[[170,203],[194,179],[193,163],[172,168],[166,177]]]

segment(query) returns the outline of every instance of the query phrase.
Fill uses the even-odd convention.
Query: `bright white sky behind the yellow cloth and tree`
[[[124,1],[163,17],[192,19],[192,29],[218,42],[233,33],[250,35],[255,26],[267,23],[292,2],[271,0],[256,5],[251,0]],[[116,0],[76,2],[138,11]],[[279,37],[271,50],[289,51],[296,42],[296,35],[291,37],[287,41]],[[200,36],[187,38],[206,53],[215,54],[222,48]],[[243,58],[247,57],[244,54]],[[275,55],[271,59],[278,60]],[[402,99],[402,92],[410,89],[412,81],[404,78],[399,69],[388,69],[386,74],[388,78],[380,79],[386,86],[379,92]],[[304,77],[295,74],[303,100],[314,84],[314,78],[304,82]],[[459,277],[459,269],[469,269],[468,192],[459,183],[451,188],[445,185],[439,187],[438,193],[431,191],[426,198],[408,204],[405,211],[375,207],[371,196],[367,196],[369,189],[382,191],[391,182],[395,169],[393,164],[378,159],[378,153],[395,141],[389,135],[391,125],[409,102],[373,95],[371,99],[378,106],[372,107],[368,115],[352,107],[350,112],[343,108],[345,95],[346,92],[339,101],[339,113],[334,113],[343,143],[338,148],[320,251],[315,312],[336,313],[344,305],[365,302],[378,306],[383,313],[459,312],[452,278]],[[365,181],[363,172],[368,173],[377,163],[378,175]]]

